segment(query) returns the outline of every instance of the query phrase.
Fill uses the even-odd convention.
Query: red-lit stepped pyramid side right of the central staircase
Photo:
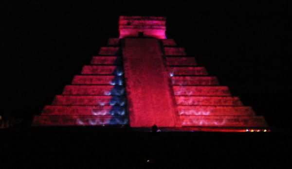
[[[184,48],[176,47],[174,40],[170,42],[162,40],[164,58],[183,127],[200,127],[200,130],[211,127],[209,131],[224,127],[268,127],[252,107],[244,106],[239,97],[232,96],[228,86],[219,85],[217,77],[209,76],[194,57],[186,55]]]

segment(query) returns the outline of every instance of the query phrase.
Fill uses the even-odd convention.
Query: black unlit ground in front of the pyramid
[[[0,130],[0,168],[291,168],[289,132],[137,132],[128,128]]]

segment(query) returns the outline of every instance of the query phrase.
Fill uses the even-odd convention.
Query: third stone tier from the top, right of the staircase
[[[196,66],[195,57],[166,57],[167,66]]]

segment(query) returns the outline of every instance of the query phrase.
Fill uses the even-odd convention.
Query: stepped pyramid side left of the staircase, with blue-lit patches
[[[34,126],[127,125],[124,73],[119,47],[102,47],[91,65],[46,105]]]

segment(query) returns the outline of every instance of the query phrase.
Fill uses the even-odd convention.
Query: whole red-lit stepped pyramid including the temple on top
[[[119,18],[110,38],[34,126],[129,126],[165,131],[268,131],[262,116],[165,35],[165,17]]]

